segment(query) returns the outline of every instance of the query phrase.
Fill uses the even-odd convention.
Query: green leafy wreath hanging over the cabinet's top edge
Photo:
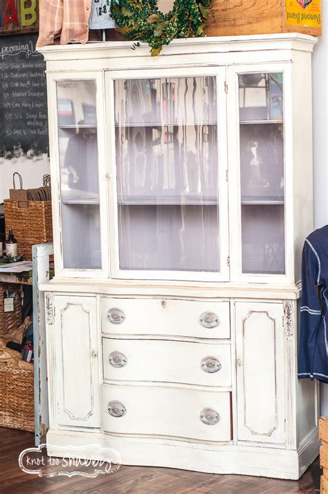
[[[172,10],[163,14],[156,0],[111,0],[111,17],[122,28],[124,39],[149,44],[152,56],[174,38],[204,35],[207,7],[211,0],[175,0]]]

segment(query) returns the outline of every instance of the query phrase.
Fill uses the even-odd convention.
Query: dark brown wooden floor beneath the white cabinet
[[[111,475],[95,479],[85,477],[36,477],[19,469],[17,459],[25,448],[33,447],[33,434],[0,427],[0,493],[1,494],[292,494],[314,493],[308,470],[298,481],[212,475],[174,470],[122,466]]]

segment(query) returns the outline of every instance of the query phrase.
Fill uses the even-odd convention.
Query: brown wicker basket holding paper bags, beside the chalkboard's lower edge
[[[31,261],[32,246],[53,241],[51,201],[26,201],[27,207],[19,207],[19,201],[3,202],[6,235],[12,229],[17,240],[18,254]]]

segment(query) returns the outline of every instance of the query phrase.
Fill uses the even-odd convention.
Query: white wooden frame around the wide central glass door
[[[218,64],[219,65],[219,64]],[[228,182],[226,180],[226,170],[228,161],[227,151],[227,128],[226,125],[221,125],[221,122],[226,122],[226,94],[224,91],[226,80],[226,68],[225,67],[206,67],[203,69],[194,67],[171,67],[170,69],[161,69],[158,71],[152,70],[152,72],[145,72],[145,70],[134,71],[108,71],[105,76],[106,85],[106,104],[107,115],[114,114],[114,91],[113,84],[115,80],[131,80],[135,78],[185,78],[185,77],[205,77],[212,76],[216,78],[217,85],[217,114],[216,120],[218,123],[218,191],[219,197],[219,256],[220,256],[220,270],[219,272],[206,272],[199,270],[198,272],[179,271],[179,270],[120,270],[119,267],[119,246],[118,246],[118,200],[116,191],[116,139],[115,139],[115,121],[111,118],[108,123],[108,142],[109,142],[109,163],[111,168],[109,171],[109,177],[111,178],[109,184],[109,219],[110,219],[110,249],[111,249],[111,276],[114,279],[168,279],[168,280],[201,280],[201,281],[228,281],[230,273],[228,267],[228,222],[226,218],[228,216]],[[221,103],[222,102],[222,103]],[[182,231],[181,231],[182,233]],[[143,235],[142,229],[140,229],[140,235]],[[197,248],[197,247],[195,247]]]

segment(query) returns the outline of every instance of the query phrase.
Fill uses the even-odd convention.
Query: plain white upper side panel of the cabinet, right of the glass
[[[295,282],[300,280],[304,239],[313,230],[311,53],[294,52],[293,87],[293,228]]]

